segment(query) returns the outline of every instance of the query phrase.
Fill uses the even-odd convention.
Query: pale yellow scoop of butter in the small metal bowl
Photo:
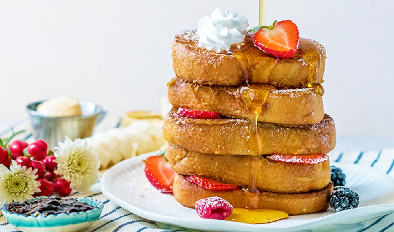
[[[60,96],[44,101],[38,105],[37,112],[43,116],[49,117],[74,116],[82,114],[79,100],[67,96]]]

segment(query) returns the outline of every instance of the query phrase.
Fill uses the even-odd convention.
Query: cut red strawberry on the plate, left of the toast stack
[[[171,168],[164,153],[148,157],[145,162],[145,176],[162,193],[171,193],[175,171]]]

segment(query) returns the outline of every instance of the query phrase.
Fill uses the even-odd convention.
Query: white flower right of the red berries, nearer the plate
[[[58,172],[70,182],[73,190],[86,192],[92,184],[99,181],[100,160],[93,147],[89,147],[85,140],[77,138],[72,140],[66,136],[64,143],[55,147]]]

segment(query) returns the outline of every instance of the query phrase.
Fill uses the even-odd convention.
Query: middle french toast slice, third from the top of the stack
[[[169,110],[163,135],[171,144],[189,151],[219,155],[252,155],[248,144],[249,122],[243,119],[195,119]],[[334,120],[325,114],[314,124],[258,123],[262,154],[327,154],[335,147]]]

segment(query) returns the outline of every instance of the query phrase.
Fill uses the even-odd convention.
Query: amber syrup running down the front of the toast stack
[[[249,197],[247,208],[257,208],[258,193],[256,180],[258,170],[261,166],[262,140],[258,134],[258,117],[264,114],[263,105],[266,103],[272,87],[267,87],[261,91],[256,91],[251,87],[251,83],[267,83],[273,68],[282,62],[282,59],[272,59],[272,57],[253,45],[253,35],[247,34],[245,41],[231,47],[230,52],[240,61],[245,75],[245,86],[240,88],[240,93],[245,105],[249,121],[249,151],[252,155],[252,162],[249,174],[249,185],[243,187],[245,194]],[[323,95],[324,90],[320,84],[319,67],[320,53],[317,46],[308,39],[300,38],[299,50],[291,59],[303,62],[301,65],[308,65],[307,83],[302,83],[302,87],[314,88],[316,93]],[[281,83],[273,83],[281,87]],[[267,85],[269,86],[269,85]]]

